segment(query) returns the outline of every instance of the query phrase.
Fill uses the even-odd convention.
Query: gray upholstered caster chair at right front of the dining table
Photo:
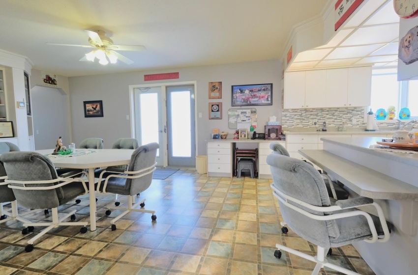
[[[115,172],[106,178],[103,177],[105,173],[109,171],[103,171],[99,177],[99,181],[96,187],[98,192],[113,193],[119,195],[128,196],[127,207],[118,207],[108,205],[106,215],[110,215],[112,212],[110,209],[125,210],[115,219],[111,220],[112,230],[116,230],[115,222],[128,214],[131,211],[151,213],[151,220],[156,220],[157,216],[154,215],[155,211],[145,210],[145,199],[142,199],[138,203],[135,201],[135,195],[141,193],[149,188],[152,182],[152,173],[155,170],[155,157],[157,155],[158,143],[149,143],[138,147],[131,156],[127,171],[124,174]],[[137,206],[141,206],[141,209],[136,209]]]

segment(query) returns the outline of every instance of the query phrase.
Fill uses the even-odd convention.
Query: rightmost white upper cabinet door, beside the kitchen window
[[[348,69],[347,106],[370,106],[372,68]]]

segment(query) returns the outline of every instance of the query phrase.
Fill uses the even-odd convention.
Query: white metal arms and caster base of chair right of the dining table
[[[144,169],[138,170],[138,171],[124,171],[123,174],[120,174],[120,172],[113,172],[113,171],[102,171],[100,173],[99,176],[99,181],[97,183],[97,192],[100,192],[100,185],[101,185],[101,181],[102,181],[102,176],[104,173],[117,173],[115,175],[109,175],[106,177],[104,183],[103,183],[103,190],[101,191],[101,193],[104,194],[113,194],[110,192],[106,192],[106,187],[107,187],[107,183],[109,181],[110,178],[114,177],[114,178],[125,178],[125,179],[137,179],[137,178],[141,178],[145,175],[148,175],[152,172],[155,171],[157,163],[155,162],[153,165],[146,167]],[[145,172],[145,173],[143,173]],[[142,174],[141,174],[142,173]],[[109,209],[117,209],[117,210],[125,210],[123,213],[121,213],[118,217],[116,217],[115,219],[111,220],[110,223],[112,224],[112,230],[116,229],[116,225],[115,222],[118,221],[120,218],[122,218],[123,216],[125,216],[126,214],[128,214],[131,211],[135,211],[135,212],[142,212],[142,213],[150,213],[154,216],[155,211],[154,210],[145,210],[145,209],[137,209],[136,207],[138,207],[138,205],[141,205],[143,203],[145,203],[145,198],[140,200],[139,202],[135,203],[135,195],[128,195],[128,205],[127,207],[119,207],[119,206],[113,206],[111,204],[108,204],[106,207]]]

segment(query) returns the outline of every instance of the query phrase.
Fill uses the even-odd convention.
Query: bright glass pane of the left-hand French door
[[[141,140],[142,144],[158,143],[158,95],[156,93],[140,94]],[[159,156],[159,150],[157,150]]]

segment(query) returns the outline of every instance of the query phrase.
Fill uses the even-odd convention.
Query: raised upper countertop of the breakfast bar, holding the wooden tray
[[[334,143],[367,154],[418,167],[418,154],[369,149],[370,145],[376,145],[376,141],[382,141],[382,138],[321,138],[321,140],[324,143]]]

